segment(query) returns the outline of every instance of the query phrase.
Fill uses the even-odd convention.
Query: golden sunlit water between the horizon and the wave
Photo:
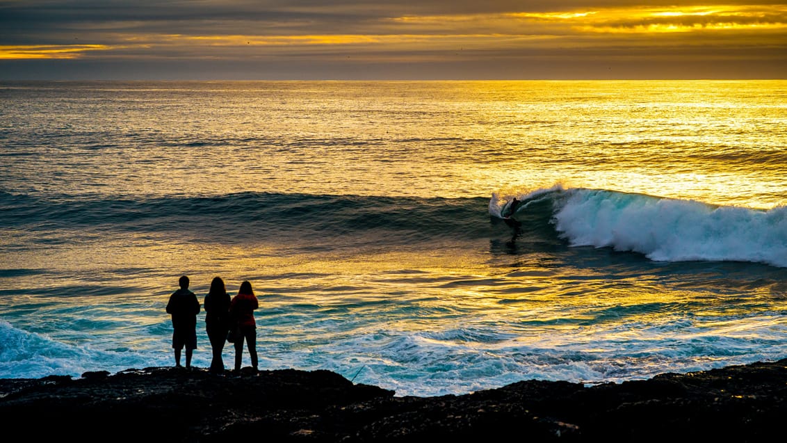
[[[489,198],[563,183],[785,204],[785,80],[145,86],[119,93],[150,94],[139,108],[47,113],[53,127],[104,128],[119,137],[109,146],[132,146],[26,157],[9,179],[36,171],[42,189],[132,196]],[[190,108],[173,112],[179,100]]]

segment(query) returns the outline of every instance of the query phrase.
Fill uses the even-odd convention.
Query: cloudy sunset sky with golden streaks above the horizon
[[[0,79],[785,79],[787,2],[0,0]]]

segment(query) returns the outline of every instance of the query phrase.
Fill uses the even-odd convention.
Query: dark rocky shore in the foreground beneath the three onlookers
[[[33,441],[434,443],[770,441],[784,434],[787,417],[787,359],[589,387],[529,380],[442,397],[394,397],[330,371],[249,369],[0,379],[0,417],[6,435]]]

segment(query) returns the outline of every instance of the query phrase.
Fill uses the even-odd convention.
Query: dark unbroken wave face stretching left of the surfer
[[[307,235],[423,242],[490,235],[485,198],[393,198],[244,192],[213,197],[39,198],[0,192],[0,227],[184,234],[219,242]]]

